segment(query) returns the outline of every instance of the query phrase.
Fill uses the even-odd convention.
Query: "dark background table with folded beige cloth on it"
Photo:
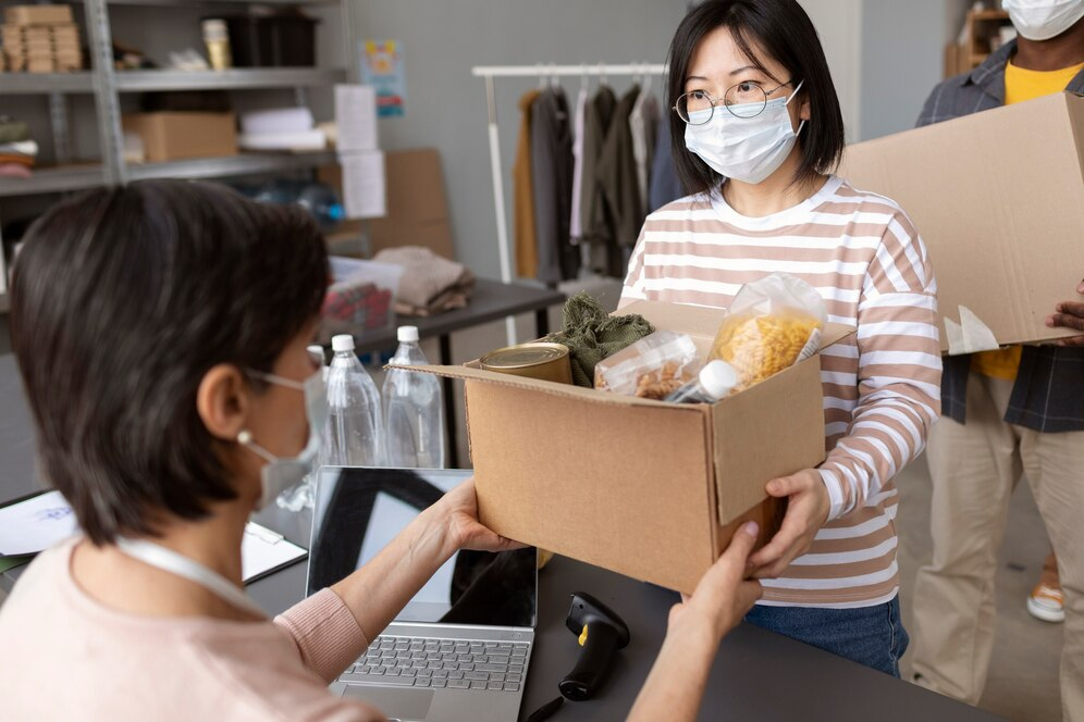
[[[360,332],[357,326],[340,321],[322,324],[320,343],[331,344],[334,334],[350,334],[354,336],[355,349],[358,353],[393,349],[398,344],[396,328],[399,325],[418,327],[421,338],[440,339],[440,364],[452,364],[452,333],[480,326],[491,321],[500,321],[520,313],[534,313],[535,337],[541,338],[550,333],[549,309],[565,302],[565,295],[550,288],[529,286],[527,284],[505,284],[500,281],[479,278],[475,283],[475,292],[470,303],[465,308],[428,318],[396,315],[395,326],[380,331]],[[444,379],[444,419],[448,434],[448,468],[459,468],[459,453],[455,424],[455,384],[451,378]]]

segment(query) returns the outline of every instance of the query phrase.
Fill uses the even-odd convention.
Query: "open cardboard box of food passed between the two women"
[[[706,356],[726,312],[641,301],[656,328]],[[824,346],[853,328],[832,324]],[[691,593],[738,525],[764,544],[783,503],[764,485],[825,457],[814,356],[715,404],[677,404],[466,366],[405,366],[466,382],[483,524],[519,542]]]

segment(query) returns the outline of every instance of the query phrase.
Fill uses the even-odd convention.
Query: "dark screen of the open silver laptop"
[[[470,478],[470,471],[324,466],[318,472],[308,594],[372,559],[419,513]],[[533,547],[461,550],[415,595],[396,622],[533,627],[538,571]]]

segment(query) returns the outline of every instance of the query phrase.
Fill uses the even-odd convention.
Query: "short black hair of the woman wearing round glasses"
[[[797,0],[706,0],[691,10],[670,42],[668,107],[674,108],[685,94],[697,46],[719,27],[730,30],[738,48],[761,70],[754,42],[786,67],[790,77],[776,78],[779,83],[804,82],[800,96],[809,98],[810,121],[798,136],[801,163],[794,180],[834,171],[843,152],[843,115],[816,28]],[[674,163],[686,192],[718,188],[724,178],[686,148],[686,124],[673,110],[669,125]]]

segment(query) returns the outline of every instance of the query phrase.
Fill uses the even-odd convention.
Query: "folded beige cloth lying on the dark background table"
[[[470,302],[475,274],[467,266],[438,256],[421,246],[385,248],[373,261],[403,266],[403,278],[395,297],[395,312],[402,315],[429,316]]]

